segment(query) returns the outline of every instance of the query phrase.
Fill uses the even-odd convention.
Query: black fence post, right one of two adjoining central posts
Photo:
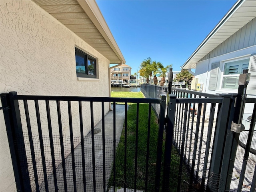
[[[167,111],[167,125],[166,125],[166,137],[165,137],[165,148],[164,148],[164,173],[163,173],[163,187],[162,191],[169,190],[170,180],[170,165],[172,155],[172,138],[173,128],[175,119],[175,108],[176,108],[176,95],[170,94],[168,111]]]

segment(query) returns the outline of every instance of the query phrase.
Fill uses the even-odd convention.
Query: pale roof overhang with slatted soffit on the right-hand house
[[[196,68],[196,63],[256,17],[256,0],[238,0],[208,34],[182,68]]]

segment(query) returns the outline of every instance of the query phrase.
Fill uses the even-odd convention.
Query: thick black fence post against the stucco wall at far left
[[[31,185],[20,119],[20,109],[18,100],[14,100],[15,95],[17,95],[17,92],[1,94],[4,121],[17,191],[30,192]]]

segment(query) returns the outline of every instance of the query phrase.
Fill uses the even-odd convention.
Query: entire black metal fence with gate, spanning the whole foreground
[[[174,144],[180,154],[177,191],[182,190],[182,182],[189,184],[189,191],[255,191],[255,98],[173,88],[166,99],[163,95],[168,92],[166,87],[144,84],[141,90],[150,98],[1,94],[17,190],[105,192],[116,187],[123,187],[124,191],[131,188],[127,186],[126,178],[127,110],[128,103],[135,103],[132,188],[136,191],[138,169],[142,169],[138,167],[139,104],[146,103],[148,136],[144,146],[146,167],[142,190],[169,191],[171,146]],[[237,120],[244,108],[242,100],[253,106],[252,116],[248,119],[250,126],[245,131]],[[113,111],[108,113],[111,118],[105,116],[109,102],[113,103]],[[124,122],[119,121],[117,102],[124,103]],[[152,180],[148,180],[149,159],[152,158],[149,147],[151,106],[158,114],[154,189],[149,187]],[[102,132],[94,134],[94,125],[100,120]],[[106,128],[107,122],[111,122],[110,129]],[[121,135],[116,130],[117,124],[121,125],[121,130],[124,125],[123,186],[117,185],[116,179],[116,161],[120,161],[116,159],[116,148]],[[106,133],[107,130],[110,132]],[[184,167],[190,175],[188,180],[182,179]]]

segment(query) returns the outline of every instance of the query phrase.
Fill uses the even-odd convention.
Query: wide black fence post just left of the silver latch
[[[218,122],[215,130],[215,138],[212,148],[212,158],[210,163],[209,177],[211,177],[211,182],[208,182],[207,189],[218,188],[220,179],[220,170],[222,165],[223,150],[226,139],[226,132],[228,127],[228,118],[231,106],[231,95],[230,94],[220,94],[223,98],[220,107],[220,112],[218,114]]]

